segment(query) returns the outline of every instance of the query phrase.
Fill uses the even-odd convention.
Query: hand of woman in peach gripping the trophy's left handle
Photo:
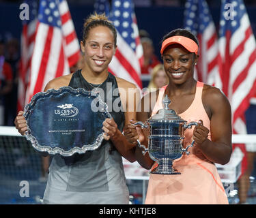
[[[139,125],[133,125],[134,123],[137,123],[137,121],[131,120],[130,123],[131,124],[124,127],[124,136],[126,137],[126,140],[132,144],[138,144],[137,140],[143,142],[145,140],[145,136],[143,135],[141,127]]]

